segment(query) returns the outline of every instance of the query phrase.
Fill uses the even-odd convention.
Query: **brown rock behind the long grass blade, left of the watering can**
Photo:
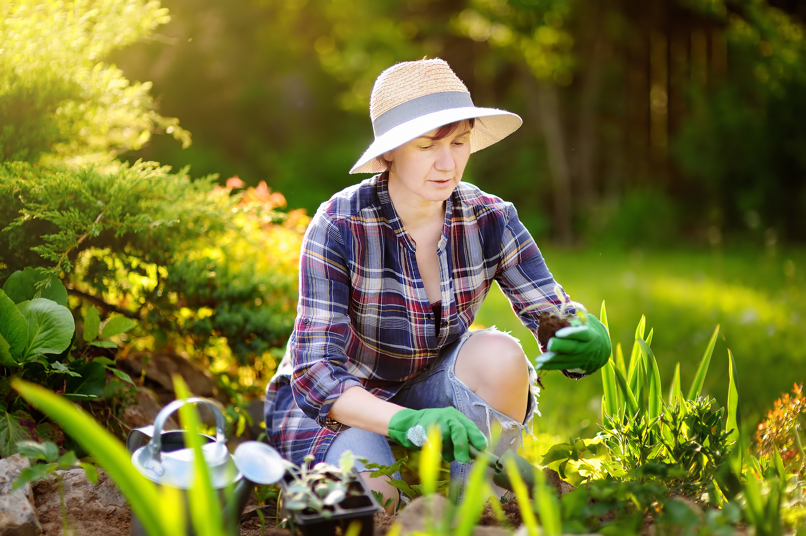
[[[56,471],[62,479],[64,508],[70,532],[81,536],[129,536],[131,510],[126,499],[105,472],[98,472],[98,485],[93,486],[81,468]],[[34,484],[34,497],[39,521],[45,536],[63,536],[62,503],[56,476]]]

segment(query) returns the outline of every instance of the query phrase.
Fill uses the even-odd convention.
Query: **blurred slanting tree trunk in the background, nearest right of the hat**
[[[555,235],[560,244],[571,245],[571,173],[568,167],[563,122],[560,118],[557,86],[549,81],[538,80],[526,69],[526,96],[530,109],[538,118],[538,124],[546,140],[549,174],[554,190]]]

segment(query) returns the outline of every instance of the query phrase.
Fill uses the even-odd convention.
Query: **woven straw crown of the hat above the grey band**
[[[369,117],[375,121],[382,113],[397,105],[443,91],[470,94],[447,61],[438,58],[404,61],[381,72],[375,80],[369,97]]]

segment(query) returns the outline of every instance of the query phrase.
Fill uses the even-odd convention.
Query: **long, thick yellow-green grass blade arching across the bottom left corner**
[[[64,397],[52,393],[19,378],[11,380],[11,386],[31,406],[48,415],[64,431],[90,452],[126,497],[131,510],[151,536],[173,534],[163,522],[162,513],[155,498],[159,497],[157,486],[141,475],[131,464],[131,455],[114,435],[106,431],[84,410]]]

